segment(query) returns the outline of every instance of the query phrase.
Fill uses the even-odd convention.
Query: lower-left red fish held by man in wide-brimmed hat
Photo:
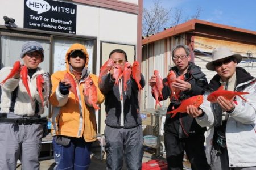
[[[174,109],[173,111],[167,112],[167,114],[173,113],[171,118],[174,117],[178,112],[180,113],[187,113],[187,106],[188,105],[194,105],[195,107],[199,107],[203,103],[203,95],[197,95],[193,97],[189,97],[188,99],[185,99],[181,101],[180,106],[177,109]]]

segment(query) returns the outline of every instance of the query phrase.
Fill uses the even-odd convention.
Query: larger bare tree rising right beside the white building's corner
[[[152,35],[163,30],[170,19],[171,9],[164,8],[159,0],[154,0],[154,6],[143,8],[142,33]]]

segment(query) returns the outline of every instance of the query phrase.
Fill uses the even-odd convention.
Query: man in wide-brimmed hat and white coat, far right
[[[200,126],[208,126],[206,154],[212,170],[256,169],[256,79],[245,69],[236,67],[242,60],[221,46],[212,52],[213,61],[208,70],[217,74],[205,89],[204,102],[200,108],[192,105],[187,113],[196,117]],[[207,101],[207,95],[224,86],[229,91],[244,91],[249,94],[234,97],[232,101],[217,97],[216,103]]]

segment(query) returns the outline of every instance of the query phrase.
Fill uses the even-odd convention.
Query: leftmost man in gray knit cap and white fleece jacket
[[[36,41],[22,46],[20,58],[27,67],[31,98],[20,78],[20,69],[13,78],[0,87],[0,169],[16,169],[17,160],[22,169],[39,169],[39,154],[43,137],[42,101],[36,88],[36,77],[44,74],[38,65],[44,60],[43,47]],[[0,82],[12,67],[0,70]],[[44,92],[43,92],[44,93]]]

